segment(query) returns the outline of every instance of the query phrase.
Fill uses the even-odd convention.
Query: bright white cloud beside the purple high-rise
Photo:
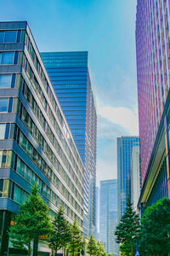
[[[129,135],[135,136],[139,134],[138,114],[133,113],[129,108],[104,106],[98,107],[98,113],[112,123],[121,125]]]

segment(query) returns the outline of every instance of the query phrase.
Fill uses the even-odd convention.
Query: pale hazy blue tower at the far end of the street
[[[117,180],[100,181],[99,193],[99,239],[107,253],[118,253],[116,243]]]

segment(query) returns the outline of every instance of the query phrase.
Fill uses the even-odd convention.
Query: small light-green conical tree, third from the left
[[[71,241],[68,246],[69,253],[71,253],[72,256],[75,256],[80,253],[83,246],[84,243],[82,242],[81,230],[77,224],[77,219],[75,219],[73,224],[71,224]]]

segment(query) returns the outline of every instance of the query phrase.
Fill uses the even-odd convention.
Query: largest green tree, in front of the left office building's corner
[[[48,235],[51,231],[48,210],[35,184],[29,199],[20,206],[14,225],[9,228],[8,235],[15,248],[27,249],[28,256],[31,255],[31,241],[37,240],[38,236]]]

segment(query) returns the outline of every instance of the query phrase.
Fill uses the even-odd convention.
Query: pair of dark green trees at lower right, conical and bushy
[[[170,253],[170,199],[162,198],[147,207],[141,219],[128,200],[115,235],[122,256],[167,256]]]

